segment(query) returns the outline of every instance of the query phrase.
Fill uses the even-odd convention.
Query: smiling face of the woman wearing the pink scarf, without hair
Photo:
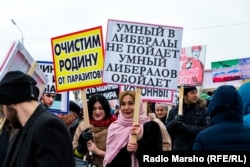
[[[130,95],[125,95],[120,104],[120,111],[125,118],[133,118],[134,100]]]

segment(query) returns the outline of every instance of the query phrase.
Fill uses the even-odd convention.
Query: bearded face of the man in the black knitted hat
[[[6,119],[8,119],[15,129],[20,129],[22,127],[20,120],[18,118],[17,110],[11,105],[1,105]]]

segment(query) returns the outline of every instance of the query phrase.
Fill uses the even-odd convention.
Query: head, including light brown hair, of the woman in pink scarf
[[[135,92],[124,91],[119,95],[120,111],[125,118],[132,118],[134,114]]]

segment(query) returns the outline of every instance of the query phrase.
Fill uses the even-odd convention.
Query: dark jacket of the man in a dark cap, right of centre
[[[204,99],[195,104],[183,103],[183,120],[185,129],[178,129],[174,117],[178,115],[178,105],[169,111],[166,127],[172,139],[173,151],[192,150],[196,135],[208,126],[208,113]]]

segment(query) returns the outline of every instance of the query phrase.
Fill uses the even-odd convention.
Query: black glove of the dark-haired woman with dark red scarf
[[[93,136],[92,136],[92,133],[90,132],[90,128],[87,128],[86,130],[82,131],[82,133],[78,139],[77,151],[81,154],[86,152],[87,151],[87,142],[89,140],[92,140],[92,139],[93,139]]]

